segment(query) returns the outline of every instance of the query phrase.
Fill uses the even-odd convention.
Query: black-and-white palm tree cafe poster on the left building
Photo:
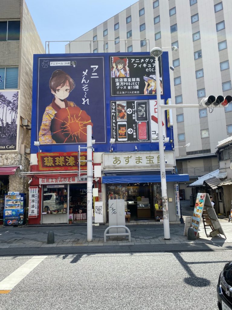
[[[0,151],[17,150],[19,91],[0,91]]]

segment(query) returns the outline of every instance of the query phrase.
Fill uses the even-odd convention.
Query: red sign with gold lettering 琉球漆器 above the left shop
[[[87,152],[37,153],[40,171],[87,170]]]

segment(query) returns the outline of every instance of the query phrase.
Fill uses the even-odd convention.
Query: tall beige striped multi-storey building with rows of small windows
[[[209,95],[232,94],[231,15],[231,0],[140,0],[66,45],[66,53],[178,47],[164,51],[174,67],[172,104],[180,105],[173,110],[177,170],[189,174],[190,183],[218,168],[218,141],[232,134],[232,103],[214,110],[181,108]],[[187,185],[180,184],[180,195],[189,199]]]

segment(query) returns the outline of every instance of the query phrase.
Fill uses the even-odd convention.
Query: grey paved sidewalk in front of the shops
[[[208,237],[205,234],[203,222],[200,224],[199,237],[195,241],[190,241],[187,236],[184,236],[184,224],[170,224],[170,240],[164,239],[164,227],[160,225],[128,225],[131,232],[131,242],[127,237],[107,237],[107,241],[104,243],[104,231],[108,227],[106,225],[93,226],[93,239],[92,242],[87,242],[87,226],[50,226],[50,227],[4,227],[0,228],[0,255],[7,255],[11,253],[11,249],[14,252],[17,250],[20,253],[30,253],[26,248],[40,248],[38,253],[44,252],[45,248],[56,247],[55,253],[58,253],[58,248],[66,248],[62,251],[78,252],[78,247],[83,249],[89,248],[87,252],[90,252],[90,248],[94,246],[94,251],[99,248],[100,252],[107,252],[107,246],[111,246],[112,250],[117,252],[127,252],[125,246],[130,246],[132,249],[166,249],[166,250],[213,250],[213,249],[232,249],[232,223],[228,222],[228,219],[219,219],[222,229],[225,232],[226,238],[223,235],[217,235],[216,237],[209,237],[210,228],[207,228]],[[47,244],[47,235],[49,231],[54,232],[55,243]],[[134,247],[133,247],[134,246]],[[144,247],[145,246],[145,247]],[[72,248],[72,250],[70,249]],[[102,248],[100,250],[100,247]],[[22,248],[22,249],[20,249]],[[67,250],[67,248],[69,250]],[[76,250],[75,250],[75,249]],[[104,248],[104,249],[103,249]],[[7,250],[8,249],[8,250]],[[43,249],[43,250],[42,250]],[[83,251],[82,249],[82,251]],[[140,250],[141,250],[140,249]],[[93,250],[93,249],[92,249]],[[139,250],[139,251],[140,251]],[[34,252],[34,251],[32,251]]]

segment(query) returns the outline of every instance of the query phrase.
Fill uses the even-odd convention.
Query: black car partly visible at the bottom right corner
[[[218,308],[232,310],[232,261],[223,268],[217,284]]]

